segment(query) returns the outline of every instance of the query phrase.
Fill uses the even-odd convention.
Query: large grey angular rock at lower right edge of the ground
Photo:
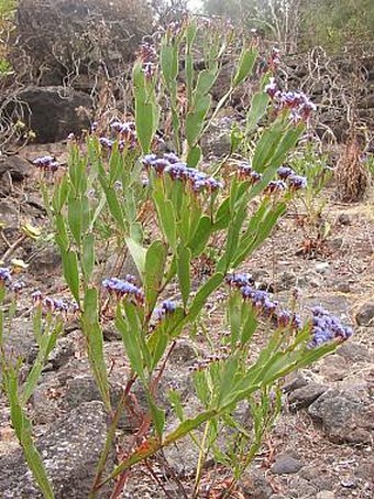
[[[330,389],[308,409],[331,442],[370,443],[374,430],[374,406],[365,384]]]

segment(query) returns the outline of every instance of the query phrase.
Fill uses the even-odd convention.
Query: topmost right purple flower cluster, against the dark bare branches
[[[274,78],[271,78],[265,86],[265,91],[272,98],[277,111],[290,110],[290,119],[295,123],[306,121],[311,112],[317,109],[316,105],[302,91],[279,90]]]

